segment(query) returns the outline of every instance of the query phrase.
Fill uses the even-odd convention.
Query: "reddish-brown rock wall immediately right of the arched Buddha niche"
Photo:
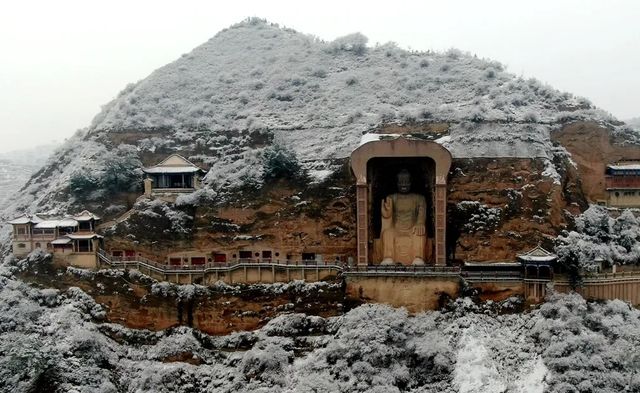
[[[544,175],[545,159],[454,160],[449,178],[447,245],[452,261],[514,261],[551,240],[567,213],[584,206],[575,173]]]

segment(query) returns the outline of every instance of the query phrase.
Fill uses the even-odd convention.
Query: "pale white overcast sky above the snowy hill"
[[[86,127],[129,82],[248,16],[325,40],[456,47],[640,116],[640,1],[7,1],[0,7],[0,152]]]

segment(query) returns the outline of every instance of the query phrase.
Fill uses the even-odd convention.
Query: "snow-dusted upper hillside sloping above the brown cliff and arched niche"
[[[327,173],[385,124],[446,123],[440,141],[456,158],[551,159],[549,133],[567,122],[623,128],[587,100],[495,61],[366,43],[359,33],[323,42],[258,19],[223,30],[127,86],[4,214],[64,210],[70,178],[96,180],[96,163],[118,143],[140,156],[186,154],[211,167],[209,186],[228,190],[260,183],[265,145],[287,146],[307,169]],[[66,197],[53,203],[55,195]]]

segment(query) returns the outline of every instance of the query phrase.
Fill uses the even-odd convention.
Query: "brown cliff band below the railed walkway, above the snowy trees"
[[[253,331],[283,313],[329,317],[354,306],[340,283],[193,287],[175,291],[135,274],[55,268],[21,273],[22,280],[48,288],[78,287],[105,307],[106,319],[133,329],[191,326],[212,335]],[[166,283],[165,283],[166,284]]]

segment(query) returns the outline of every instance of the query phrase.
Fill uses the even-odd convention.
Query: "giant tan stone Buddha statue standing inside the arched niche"
[[[382,200],[382,265],[424,265],[427,203],[423,195],[409,192],[411,174],[397,175],[398,192]]]

